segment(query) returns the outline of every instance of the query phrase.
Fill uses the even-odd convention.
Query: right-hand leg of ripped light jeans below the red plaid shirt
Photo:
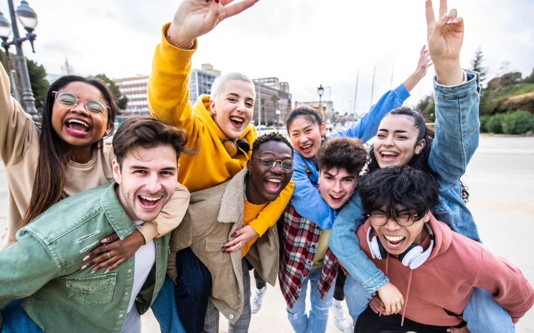
[[[328,310],[332,306],[332,295],[334,295],[334,286],[332,286],[325,298],[321,299],[317,282],[321,278],[321,271],[323,267],[318,267],[311,270],[310,273],[310,314],[308,316],[308,332],[311,333],[325,333],[326,324],[328,323]],[[334,281],[335,283],[335,281]]]

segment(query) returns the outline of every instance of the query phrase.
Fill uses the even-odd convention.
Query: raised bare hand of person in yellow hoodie
[[[168,40],[182,48],[193,46],[194,39],[209,33],[222,20],[252,7],[257,0],[184,0],[168,30]]]

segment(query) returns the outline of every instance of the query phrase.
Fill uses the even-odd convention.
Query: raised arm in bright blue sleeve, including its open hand
[[[428,51],[423,45],[423,48],[419,52],[417,68],[412,75],[410,75],[403,84],[382,95],[380,100],[371,107],[369,112],[365,113],[362,119],[351,124],[347,128],[340,129],[340,131],[337,131],[331,137],[358,137],[363,142],[370,140],[376,135],[378,124],[380,124],[380,120],[382,120],[384,115],[389,111],[402,106],[404,101],[409,98],[412,89],[423,77],[425,77],[427,69],[431,64],[432,63],[428,57]]]

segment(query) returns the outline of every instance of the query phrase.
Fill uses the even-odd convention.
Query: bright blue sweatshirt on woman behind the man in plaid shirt
[[[376,135],[382,117],[392,109],[400,107],[409,97],[410,93],[406,90],[404,84],[399,85],[394,90],[383,94],[362,119],[347,128],[340,129],[329,136],[328,139],[357,137],[363,142],[370,140]],[[319,178],[317,166],[311,159],[302,157],[297,151],[294,152],[293,162],[295,164],[292,177],[295,183],[295,190],[293,197],[291,197],[293,207],[302,217],[313,221],[321,229],[331,229],[337,211],[328,206],[317,191],[316,186]],[[310,175],[306,172],[307,168],[310,170]]]

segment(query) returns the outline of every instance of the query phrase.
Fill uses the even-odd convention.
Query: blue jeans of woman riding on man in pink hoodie
[[[367,290],[350,275],[347,277],[345,299],[353,321],[356,321],[367,308],[374,294],[367,293]],[[488,290],[482,288],[473,288],[473,294],[464,308],[464,320],[471,333],[515,332],[515,326],[508,312],[491,297]]]

